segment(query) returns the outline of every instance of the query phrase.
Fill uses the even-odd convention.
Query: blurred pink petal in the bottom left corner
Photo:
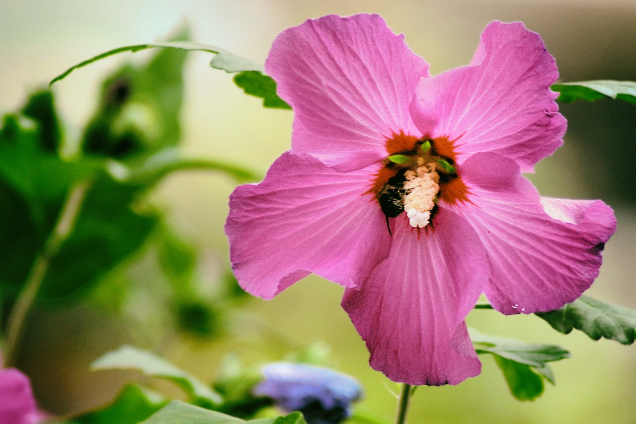
[[[17,369],[0,370],[0,423],[36,424],[39,413],[29,378]]]

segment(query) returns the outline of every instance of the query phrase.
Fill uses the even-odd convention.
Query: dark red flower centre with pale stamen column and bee
[[[395,218],[406,212],[413,228],[424,228],[438,210],[438,201],[467,201],[466,185],[455,168],[455,151],[447,138],[415,138],[403,132],[387,139],[389,157],[368,193],[382,212]]]

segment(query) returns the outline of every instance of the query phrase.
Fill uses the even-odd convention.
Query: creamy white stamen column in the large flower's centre
[[[439,174],[436,164],[424,164],[420,158],[420,166],[415,171],[406,171],[404,188],[410,190],[404,197],[404,211],[408,223],[413,228],[424,228],[431,219],[431,210],[435,206],[435,196],[439,192]]]

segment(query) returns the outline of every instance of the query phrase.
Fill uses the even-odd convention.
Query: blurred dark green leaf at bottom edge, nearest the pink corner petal
[[[137,385],[127,385],[102,409],[73,418],[69,424],[137,424],[161,409],[168,400]]]

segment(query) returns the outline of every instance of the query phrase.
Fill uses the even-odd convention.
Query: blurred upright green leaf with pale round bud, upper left
[[[188,36],[184,28],[172,39]],[[125,64],[106,78],[83,134],[83,152],[121,159],[179,143],[185,59],[184,50],[163,49],[142,66]]]

